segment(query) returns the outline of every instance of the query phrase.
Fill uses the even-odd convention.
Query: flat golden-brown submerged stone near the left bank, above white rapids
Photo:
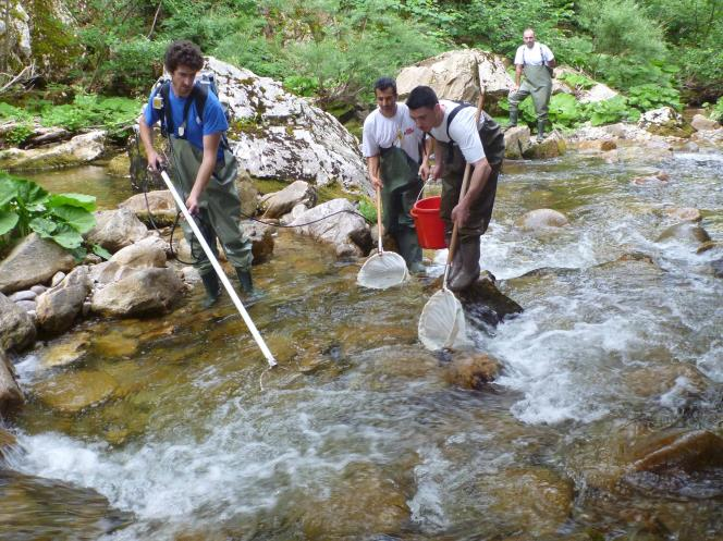
[[[75,414],[110,398],[118,383],[100,370],[70,370],[37,383],[33,394],[49,407]]]

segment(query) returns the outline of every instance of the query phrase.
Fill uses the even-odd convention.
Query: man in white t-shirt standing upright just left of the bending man
[[[396,102],[394,79],[377,81],[375,96],[378,108],[364,121],[362,150],[371,183],[381,188],[384,231],[396,242],[409,271],[424,272],[421,248],[409,216],[422,187],[419,179],[422,134],[407,107]]]

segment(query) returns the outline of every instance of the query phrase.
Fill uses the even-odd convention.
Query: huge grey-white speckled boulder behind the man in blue
[[[248,70],[212,57],[205,69],[215,73],[233,116],[229,139],[241,169],[257,179],[372,192],[358,142],[333,115]]]

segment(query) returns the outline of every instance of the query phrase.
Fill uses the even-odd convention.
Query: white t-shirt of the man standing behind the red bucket
[[[377,109],[364,121],[362,153],[365,158],[370,158],[379,156],[381,148],[399,147],[414,161],[419,162],[421,135],[421,131],[409,116],[406,104],[396,103],[396,112],[391,119]]]

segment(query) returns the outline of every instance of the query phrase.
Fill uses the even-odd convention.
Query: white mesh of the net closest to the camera
[[[462,304],[449,290],[434,293],[419,316],[419,340],[427,349],[469,349],[467,323]]]

